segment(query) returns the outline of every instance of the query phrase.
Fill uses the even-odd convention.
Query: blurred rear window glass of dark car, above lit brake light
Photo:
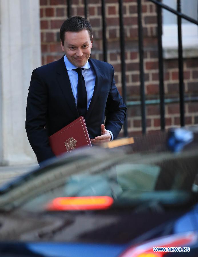
[[[195,152],[182,154],[128,154],[102,163],[87,163],[77,174],[52,182],[50,190],[32,197],[22,206],[26,210],[45,210],[58,197],[110,196],[114,203],[133,205],[145,201],[182,203],[196,192],[198,161]],[[93,165],[95,163],[95,166]],[[67,169],[67,166],[65,166]]]

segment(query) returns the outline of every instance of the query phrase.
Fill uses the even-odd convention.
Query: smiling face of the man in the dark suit
[[[92,40],[89,32],[86,29],[79,32],[66,31],[64,46],[61,42],[61,48],[73,65],[83,67],[91,54]]]

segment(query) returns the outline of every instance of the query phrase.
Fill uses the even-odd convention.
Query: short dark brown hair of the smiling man
[[[86,29],[89,32],[90,39],[92,39],[92,28],[91,24],[89,23],[89,21],[87,21],[87,19],[81,16],[73,16],[65,20],[60,29],[60,39],[63,46],[66,31],[79,32],[83,29]]]

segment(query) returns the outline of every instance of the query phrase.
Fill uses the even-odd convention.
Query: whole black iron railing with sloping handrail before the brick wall
[[[126,79],[125,79],[125,35],[124,35],[124,23],[123,23],[123,1],[119,2],[119,26],[120,26],[120,53],[121,53],[121,77],[122,77],[122,96],[123,101],[127,105],[141,105],[141,119],[142,119],[142,132],[146,133],[146,111],[145,107],[147,104],[155,103],[160,105],[160,123],[161,129],[165,129],[165,103],[177,102],[178,98],[175,99],[165,99],[164,97],[164,73],[163,73],[163,49],[162,49],[162,8],[170,11],[177,15],[177,26],[178,26],[178,66],[179,66],[179,102],[180,102],[180,124],[185,125],[185,111],[184,103],[185,101],[191,99],[195,101],[192,97],[184,97],[184,83],[183,83],[183,49],[182,49],[182,35],[181,35],[181,18],[190,21],[198,25],[198,21],[188,17],[187,15],[181,13],[181,0],[177,0],[177,10],[170,8],[169,6],[161,3],[161,0],[147,0],[157,5],[157,35],[158,35],[158,60],[159,60],[159,100],[145,100],[144,91],[144,68],[143,68],[143,28],[142,28],[142,17],[141,17],[141,0],[137,0],[138,9],[138,37],[139,37],[139,69],[140,69],[140,97],[141,101],[127,102],[126,94]],[[71,0],[67,0],[67,16],[71,16]],[[84,0],[84,13],[87,18],[87,7],[88,0]],[[90,1],[91,3],[91,1]],[[105,0],[101,0],[101,13],[102,13],[102,35],[103,35],[103,61],[107,61],[107,39],[106,39],[106,17],[105,17]],[[196,101],[197,101],[197,97]],[[124,123],[124,136],[127,136],[127,119]]]

